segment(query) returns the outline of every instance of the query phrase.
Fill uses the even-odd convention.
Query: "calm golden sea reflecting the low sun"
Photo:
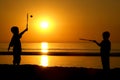
[[[7,52],[8,43],[0,43],[0,52]],[[87,52],[99,54],[95,43],[22,43],[23,52],[43,52],[43,55],[22,55],[21,64],[40,66],[102,68],[100,56],[48,56],[48,52]],[[120,43],[112,43],[111,54],[120,53]],[[57,53],[56,53],[57,54]],[[0,55],[0,64],[12,64],[12,55]],[[120,56],[110,57],[111,68],[120,68]]]

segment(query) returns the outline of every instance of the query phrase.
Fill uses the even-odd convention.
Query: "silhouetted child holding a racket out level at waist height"
[[[103,32],[102,36],[103,36],[103,40],[101,43],[98,43],[96,40],[93,40],[93,42],[95,42],[98,46],[100,46],[100,55],[101,55],[103,70],[109,71],[110,69],[109,57],[111,50],[111,42],[109,40],[110,33],[108,31],[105,31]]]

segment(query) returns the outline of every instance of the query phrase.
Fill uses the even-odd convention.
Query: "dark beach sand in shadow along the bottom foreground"
[[[108,76],[108,77],[106,77]],[[107,79],[106,79],[107,78]],[[83,67],[42,67],[0,64],[0,80],[120,80],[120,68],[105,74],[102,69]]]

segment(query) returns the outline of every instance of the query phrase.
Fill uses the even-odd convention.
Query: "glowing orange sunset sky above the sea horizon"
[[[0,42],[9,42],[10,28],[25,29],[26,14],[29,31],[23,42],[79,41],[79,38],[102,39],[110,31],[111,41],[120,42],[120,0],[0,0]],[[40,23],[48,22],[42,29]]]

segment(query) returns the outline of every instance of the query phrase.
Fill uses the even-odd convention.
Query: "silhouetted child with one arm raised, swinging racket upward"
[[[10,47],[13,47],[13,65],[19,65],[21,61],[21,41],[20,38],[22,35],[28,30],[28,26],[26,29],[19,33],[19,28],[17,26],[13,26],[11,28],[11,32],[13,33],[13,37],[9,43],[8,51]]]

